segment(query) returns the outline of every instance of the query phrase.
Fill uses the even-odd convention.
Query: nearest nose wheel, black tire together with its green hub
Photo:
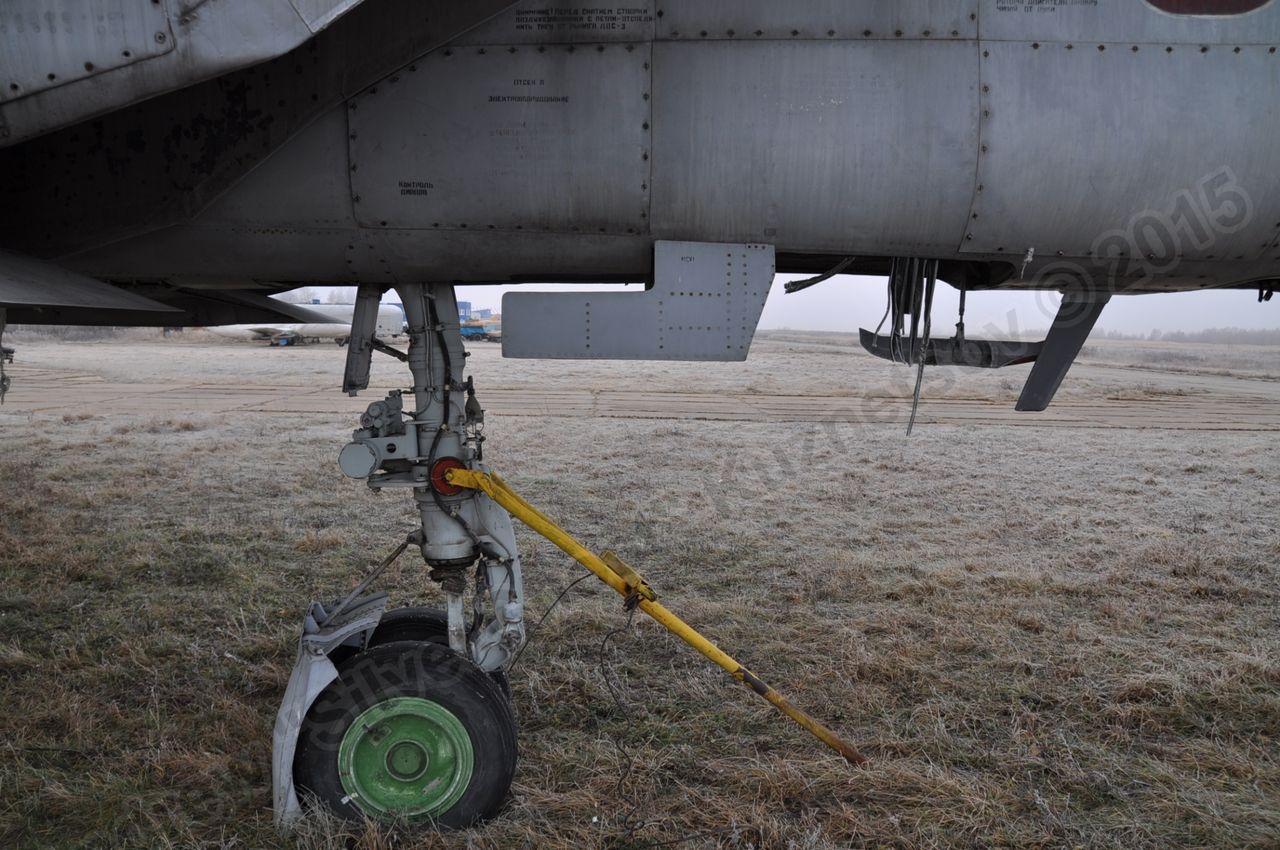
[[[497,814],[515,769],[500,685],[422,641],[343,662],[307,712],[293,762],[298,789],[339,817],[454,828]]]

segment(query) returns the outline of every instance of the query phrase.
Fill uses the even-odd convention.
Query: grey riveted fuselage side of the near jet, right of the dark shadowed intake
[[[73,264],[639,279],[655,239],[684,239],[1014,268],[1032,250],[1014,285],[1057,261],[1121,289],[1243,284],[1280,275],[1277,44],[1276,3],[517,6],[324,114],[189,223]],[[1117,277],[1103,255],[1134,260],[1152,216],[1176,261]]]

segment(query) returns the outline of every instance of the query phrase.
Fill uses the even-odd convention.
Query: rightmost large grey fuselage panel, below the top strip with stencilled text
[[[1114,259],[1119,279],[1142,273],[1135,255],[1157,271],[1260,256],[1280,220],[1280,59],[1102,46],[983,44],[961,250]]]

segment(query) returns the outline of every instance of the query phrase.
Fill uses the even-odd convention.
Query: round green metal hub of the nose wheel
[[[338,778],[367,814],[429,818],[466,792],[475,749],[462,721],[439,703],[397,696],[365,709],[338,745]]]

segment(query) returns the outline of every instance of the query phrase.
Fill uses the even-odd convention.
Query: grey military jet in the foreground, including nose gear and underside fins
[[[384,594],[355,591],[307,611],[275,727],[285,822],[302,789],[343,817],[465,826],[512,778],[502,684],[524,584],[508,513],[451,481],[485,469],[454,284],[645,284],[506,294],[508,357],[726,361],[746,357],[774,273],[817,275],[790,289],[881,275],[869,351],[1032,362],[1025,411],[1050,403],[1116,294],[1280,285],[1276,0],[3,14],[0,330],[274,326],[264,296],[357,284],[343,389],[367,387],[374,351],[412,375],[369,406],[340,463],[412,493],[410,541],[447,613],[384,616]],[[1042,342],[970,339],[963,314],[933,338],[938,280],[961,303],[1064,297]],[[390,288],[407,352],[378,338]]]

